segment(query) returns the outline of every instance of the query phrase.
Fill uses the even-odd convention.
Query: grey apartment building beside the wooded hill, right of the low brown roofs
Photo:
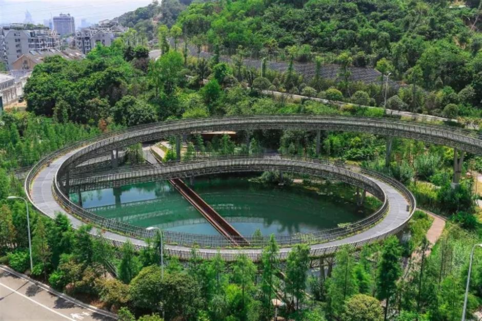
[[[123,34],[127,28],[115,20],[103,20],[89,28],[82,28],[75,33],[75,46],[84,54],[91,51],[97,43],[110,46],[112,41]]]

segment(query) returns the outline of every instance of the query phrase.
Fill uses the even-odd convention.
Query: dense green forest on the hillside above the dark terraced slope
[[[389,98],[395,97],[388,104],[393,109],[480,117],[480,13],[476,3],[470,5],[453,8],[446,1],[412,0],[210,1],[191,4],[176,25],[185,39],[214,52],[338,63],[336,87],[346,98],[354,100],[360,90],[348,83],[353,72],[347,67],[371,67],[409,84],[392,88]],[[302,83],[317,91],[330,86],[319,80],[283,87],[299,93]],[[361,90],[383,103],[384,90]]]

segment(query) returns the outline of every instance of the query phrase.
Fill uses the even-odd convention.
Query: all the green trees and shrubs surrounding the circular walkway
[[[117,127],[218,115],[390,117],[381,108],[359,106],[381,105],[383,87],[350,81],[350,65],[375,66],[412,84],[389,99],[387,106],[391,108],[472,116],[468,122],[475,124],[480,120],[481,97],[477,95],[482,90],[477,77],[482,72],[482,56],[477,46],[482,40],[466,27],[475,20],[470,8],[457,11],[443,2],[405,1],[208,2],[190,5],[177,23],[174,15],[170,23],[164,22],[172,25],[170,29],[160,26],[158,30],[149,29],[146,23],[152,25],[151,20],[160,12],[156,11],[158,5],[148,8],[152,10],[141,8],[122,17],[137,32],[128,32],[109,48],[98,46],[82,61],[46,58],[35,67],[25,88],[28,112],[2,116],[0,260],[14,269],[24,272],[29,261],[25,206],[6,201],[8,195],[23,194],[21,182],[10,170],[32,165],[75,140]],[[149,33],[159,36],[163,53],[155,61],[149,60],[149,49],[139,45],[143,41],[137,41],[138,37],[151,37]],[[174,48],[168,37],[173,38]],[[212,46],[212,59],[189,56],[181,38],[199,49],[203,44]],[[266,51],[271,45],[263,39],[276,39],[275,44],[270,40],[273,51]],[[220,62],[222,50],[236,51],[231,63]],[[280,58],[285,53],[290,68],[285,73],[269,70],[266,65],[260,70],[249,68],[243,62],[246,50]],[[337,57],[342,63],[342,81],[320,79],[316,73],[308,81],[294,72],[293,60],[310,60],[314,52],[328,61]],[[322,60],[315,60],[322,66]],[[291,101],[285,96],[264,95],[266,89],[354,104]],[[186,266],[166,257],[163,278],[158,240],[151,240],[140,252],[129,243],[116,249],[101,234],[92,237],[91,227],[73,230],[63,215],[50,220],[31,210],[34,269],[30,273],[71,295],[101,301],[122,320],[148,314],[140,319],[152,321],[163,312],[169,320],[268,320],[273,316],[270,300],[277,292],[287,303],[280,313],[297,320],[460,317],[470,247],[482,240],[480,210],[474,204],[478,196],[471,176],[482,171],[482,158],[467,155],[461,184],[452,188],[452,148],[394,139],[392,158],[385,166],[385,138],[377,135],[324,132],[321,155],[316,156],[312,132],[249,134],[249,147],[244,133],[235,139],[224,135],[210,141],[200,135],[189,136],[182,159],[259,154],[269,149],[285,155],[355,162],[403,182],[413,191],[419,207],[449,218],[443,238],[428,257],[416,259],[425,255],[429,246],[425,233],[431,225],[431,219],[417,211],[407,229],[409,240],[390,238],[356,254],[345,248],[337,253],[326,276],[315,273],[307,277],[312,258],[301,245],[289,255],[283,266],[286,278],[282,277],[278,273],[282,266],[276,260],[279,249],[271,242],[259,266],[245,256],[230,265],[218,257],[205,261],[194,250]],[[173,145],[171,141],[171,148],[166,148],[166,160],[176,158]],[[272,173],[263,179],[277,182]],[[412,253],[419,255],[411,259]],[[480,306],[482,297],[480,251],[475,258],[470,312]],[[116,267],[117,278],[106,277],[112,273],[111,265]]]

